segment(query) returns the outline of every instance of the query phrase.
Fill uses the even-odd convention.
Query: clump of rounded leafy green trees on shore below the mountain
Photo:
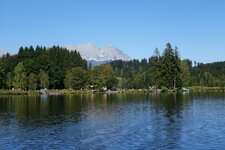
[[[85,70],[76,67],[68,70],[65,77],[67,89],[116,89],[118,79],[109,64]]]

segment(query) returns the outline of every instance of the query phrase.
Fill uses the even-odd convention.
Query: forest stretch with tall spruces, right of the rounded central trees
[[[162,54],[156,48],[149,59],[117,60],[111,62],[111,66],[122,78],[123,88],[225,86],[225,62],[203,64],[181,60],[178,48],[169,43]]]

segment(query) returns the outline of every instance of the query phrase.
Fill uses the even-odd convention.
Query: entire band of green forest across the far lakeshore
[[[156,48],[142,60],[116,60],[91,67],[79,52],[53,46],[21,47],[0,58],[0,88],[49,89],[180,89],[190,86],[224,87],[225,62],[209,64],[181,60],[177,47]]]

